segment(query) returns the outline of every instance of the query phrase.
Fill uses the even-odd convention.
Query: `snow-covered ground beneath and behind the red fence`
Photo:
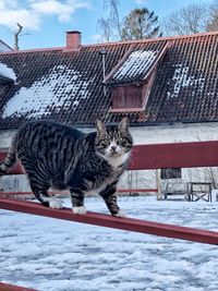
[[[120,205],[130,217],[218,231],[218,203],[122,197]],[[98,198],[86,208],[107,213]],[[40,291],[217,291],[217,248],[0,210],[0,281]]]

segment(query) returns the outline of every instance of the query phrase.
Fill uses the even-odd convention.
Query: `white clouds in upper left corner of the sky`
[[[89,9],[88,0],[0,0],[0,25],[15,28],[21,23],[26,29],[39,29],[46,16],[70,22],[78,9]]]

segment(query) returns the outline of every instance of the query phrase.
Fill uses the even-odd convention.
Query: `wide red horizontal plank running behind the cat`
[[[5,153],[0,153],[3,160]],[[135,145],[130,170],[150,170],[162,168],[192,168],[218,166],[218,141]],[[9,173],[23,173],[17,163]]]

